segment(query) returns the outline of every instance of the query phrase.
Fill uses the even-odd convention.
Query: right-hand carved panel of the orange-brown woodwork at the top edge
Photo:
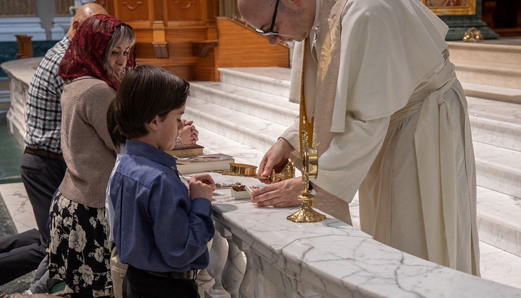
[[[169,21],[206,21],[203,0],[168,0]]]

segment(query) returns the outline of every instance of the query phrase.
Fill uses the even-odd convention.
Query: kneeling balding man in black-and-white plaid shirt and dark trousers
[[[34,283],[47,269],[44,258],[49,239],[49,209],[53,194],[67,169],[60,148],[60,96],[64,81],[58,75],[58,66],[81,23],[96,14],[108,13],[101,5],[94,3],[85,4],[78,9],[67,35],[47,51],[31,80],[27,97],[27,133],[24,139],[26,148],[20,172],[38,230],[20,233],[0,242],[0,285],[31,272],[42,264],[36,272]],[[48,281],[48,275],[46,280]],[[56,281],[47,284],[44,282],[42,289],[31,289],[34,292],[46,292],[54,283]]]

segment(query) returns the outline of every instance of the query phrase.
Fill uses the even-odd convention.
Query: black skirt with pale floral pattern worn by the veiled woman
[[[58,192],[51,206],[49,276],[65,292],[113,296],[105,208],[87,207]]]

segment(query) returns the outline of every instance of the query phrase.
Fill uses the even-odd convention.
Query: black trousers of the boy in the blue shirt
[[[123,298],[200,298],[194,280],[148,275],[129,265],[123,279]]]

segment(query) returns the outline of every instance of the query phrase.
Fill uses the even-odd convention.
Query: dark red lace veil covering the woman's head
[[[103,55],[108,39],[118,26],[128,25],[108,15],[94,15],[84,20],[61,59],[58,74],[64,79],[96,77],[117,90],[119,80],[108,73],[103,64]],[[132,46],[123,73],[134,67],[135,46]]]

